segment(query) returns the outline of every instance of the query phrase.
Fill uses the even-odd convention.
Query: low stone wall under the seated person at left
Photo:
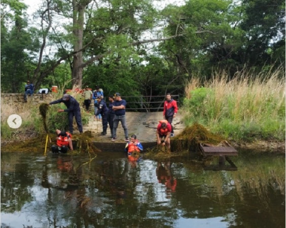
[[[17,111],[20,111],[23,106],[29,105],[40,105],[42,103],[50,103],[56,100],[56,95],[54,93],[49,94],[33,94],[33,96],[27,97],[27,103],[24,101],[24,94],[1,94],[1,103],[9,104]]]

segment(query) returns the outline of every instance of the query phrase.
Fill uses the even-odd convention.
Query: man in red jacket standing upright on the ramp
[[[171,94],[167,94],[166,101],[164,102],[163,117],[170,123],[172,127],[171,135],[170,135],[171,137],[174,136],[174,129],[172,126],[172,121],[173,121],[173,118],[176,116],[177,111],[178,111],[177,102],[171,98]]]

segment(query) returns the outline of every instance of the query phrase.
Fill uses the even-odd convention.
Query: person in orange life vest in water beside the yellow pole
[[[71,151],[74,150],[70,133],[56,129],[56,134],[57,134],[57,145],[52,146],[53,153],[66,153],[68,148]]]

